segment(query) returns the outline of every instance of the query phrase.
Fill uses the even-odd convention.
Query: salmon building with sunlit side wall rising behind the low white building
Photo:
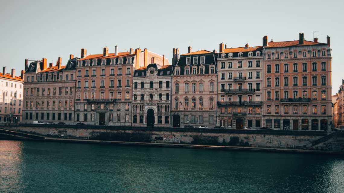
[[[148,59],[149,58],[149,59]],[[129,52],[86,54],[81,50],[76,73],[76,122],[88,125],[131,125],[132,74],[147,66],[148,60],[169,65],[164,56],[146,48],[129,49]]]

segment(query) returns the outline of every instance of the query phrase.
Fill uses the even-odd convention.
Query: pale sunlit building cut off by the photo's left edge
[[[21,123],[23,101],[24,70],[21,76],[15,76],[15,69],[11,74],[3,67],[0,73],[0,122]]]

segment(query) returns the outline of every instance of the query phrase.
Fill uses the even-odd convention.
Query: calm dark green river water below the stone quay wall
[[[344,158],[0,140],[0,192],[344,192]]]

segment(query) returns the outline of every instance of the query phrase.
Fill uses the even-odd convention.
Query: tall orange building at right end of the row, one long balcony
[[[331,48],[263,37],[263,126],[278,130],[327,130],[331,121]],[[330,127],[331,128],[331,127]]]

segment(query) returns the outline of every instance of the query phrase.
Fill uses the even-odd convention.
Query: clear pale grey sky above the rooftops
[[[79,57],[109,53],[115,46],[124,52],[147,48],[165,55],[171,63],[172,48],[180,54],[219,51],[227,47],[261,46],[268,34],[276,41],[292,41],[305,34],[326,43],[331,37],[332,94],[344,78],[340,48],[344,43],[344,1],[0,1],[0,71],[24,69],[25,59],[47,58],[56,64],[69,54]],[[321,34],[321,35],[320,35]],[[341,35],[342,34],[342,35]],[[106,44],[107,43],[107,44]]]

